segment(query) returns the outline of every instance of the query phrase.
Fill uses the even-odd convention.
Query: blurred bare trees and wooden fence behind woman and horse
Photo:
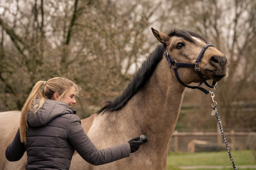
[[[35,82],[65,77],[83,89],[77,114],[90,116],[159,44],[151,27],[194,31],[226,55],[215,101],[232,150],[251,150],[255,164],[256,0],[1,0],[0,111],[21,110]],[[197,152],[198,141],[221,150],[211,112],[209,95],[186,89],[169,151]]]

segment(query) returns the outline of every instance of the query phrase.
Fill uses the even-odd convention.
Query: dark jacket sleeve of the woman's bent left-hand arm
[[[22,158],[26,148],[22,142],[20,142],[20,128],[17,130],[15,138],[12,143],[6,148],[6,159],[8,161],[18,161]]]

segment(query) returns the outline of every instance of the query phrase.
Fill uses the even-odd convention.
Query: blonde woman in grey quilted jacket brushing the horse
[[[20,128],[6,148],[6,158],[18,161],[26,151],[26,170],[68,170],[75,150],[93,165],[137,151],[143,144],[140,137],[102,150],[95,147],[71,109],[79,90],[78,85],[61,77],[37,82],[21,110]]]

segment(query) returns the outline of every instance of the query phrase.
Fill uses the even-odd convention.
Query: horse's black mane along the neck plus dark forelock
[[[171,31],[168,35],[170,37],[182,37],[190,42],[195,42],[195,40],[192,38],[193,36],[200,38],[204,42],[207,42],[204,37],[191,31],[174,30]],[[143,87],[143,85],[145,85],[148,78],[151,77],[154,69],[157,67],[157,64],[163,59],[164,49],[165,45],[158,45],[157,48],[149,55],[148,59],[143,62],[142,66],[137,71],[137,74],[134,75],[133,79],[127,85],[123,93],[120,96],[117,96],[112,102],[106,102],[107,105],[97,111],[96,114],[99,114],[102,111],[118,111],[122,109],[131,99],[131,97],[134,96],[134,94],[136,94],[137,91]]]

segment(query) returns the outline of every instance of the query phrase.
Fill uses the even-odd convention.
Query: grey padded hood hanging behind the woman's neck
[[[39,105],[40,100],[39,98],[35,99],[35,107]],[[44,126],[52,121],[52,119],[63,114],[76,114],[76,111],[72,110],[70,106],[64,102],[46,99],[42,107],[35,114],[32,111],[28,112],[27,122],[32,127]]]

